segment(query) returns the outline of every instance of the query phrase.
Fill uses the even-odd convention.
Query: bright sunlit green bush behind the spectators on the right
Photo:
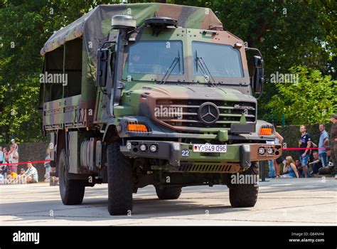
[[[337,80],[303,66],[289,73],[298,74],[299,83],[276,83],[279,94],[267,104],[274,117],[284,113],[287,124],[328,122],[337,110]]]

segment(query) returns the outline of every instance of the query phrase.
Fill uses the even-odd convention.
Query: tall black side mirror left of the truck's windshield
[[[100,86],[101,88],[107,85],[109,52],[109,48],[100,48],[97,50],[96,85]]]

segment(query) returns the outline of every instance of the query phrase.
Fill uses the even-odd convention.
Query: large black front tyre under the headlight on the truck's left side
[[[107,146],[108,211],[124,215],[132,211],[132,159],[119,150],[119,143]]]

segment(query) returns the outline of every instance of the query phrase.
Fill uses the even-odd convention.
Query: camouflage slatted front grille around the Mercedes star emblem
[[[200,105],[205,102],[212,102],[220,112],[218,120],[212,124],[201,121],[198,115]],[[240,122],[242,113],[245,113],[247,122],[256,121],[255,102],[156,100],[156,110],[166,110],[164,115],[156,115],[156,119],[178,130],[196,130],[200,128],[230,129],[230,124]]]

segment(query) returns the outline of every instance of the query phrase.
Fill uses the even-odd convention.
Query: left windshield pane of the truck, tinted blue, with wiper
[[[172,75],[183,75],[183,43],[181,41],[139,41],[129,47],[128,72],[165,75],[172,61],[178,66]]]

